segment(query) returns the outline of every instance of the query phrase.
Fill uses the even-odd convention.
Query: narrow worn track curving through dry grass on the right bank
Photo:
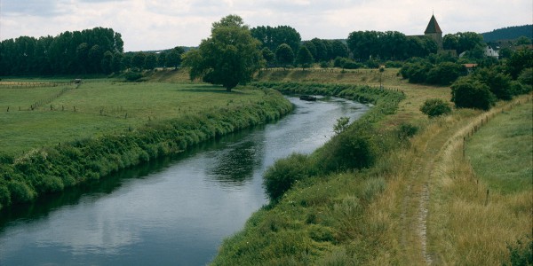
[[[523,99],[518,99],[523,100]],[[434,256],[428,250],[427,217],[431,215],[429,200],[431,198],[432,180],[437,178],[442,168],[449,167],[454,151],[463,148],[463,139],[469,133],[481,128],[483,121],[489,117],[510,110],[516,103],[509,102],[504,106],[493,108],[471,118],[447,123],[440,130],[428,129],[425,137],[418,143],[419,151],[412,164],[410,175],[402,199],[402,226],[400,240],[404,260],[406,262],[424,262],[434,264]]]

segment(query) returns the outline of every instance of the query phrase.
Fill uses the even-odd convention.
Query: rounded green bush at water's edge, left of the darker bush
[[[293,153],[285,159],[276,160],[263,176],[263,185],[268,198],[277,202],[295,182],[305,179],[307,176],[306,166],[307,156],[303,154]]]

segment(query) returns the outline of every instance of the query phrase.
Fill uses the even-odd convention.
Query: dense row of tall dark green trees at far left
[[[111,28],[95,27],[0,43],[0,74],[107,73],[119,67],[123,40]]]

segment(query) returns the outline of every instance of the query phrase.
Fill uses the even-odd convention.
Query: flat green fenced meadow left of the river
[[[136,129],[149,121],[243,105],[262,95],[259,90],[227,93],[206,84],[162,82],[87,80],[78,88],[71,84],[20,89],[0,84],[0,152],[17,155],[36,147]]]

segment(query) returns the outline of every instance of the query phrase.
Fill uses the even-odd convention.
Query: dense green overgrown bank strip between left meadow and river
[[[81,139],[36,149],[19,158],[0,156],[0,208],[97,180],[118,169],[179,153],[191,145],[279,119],[292,109],[275,90],[257,102],[152,123],[120,135]]]

